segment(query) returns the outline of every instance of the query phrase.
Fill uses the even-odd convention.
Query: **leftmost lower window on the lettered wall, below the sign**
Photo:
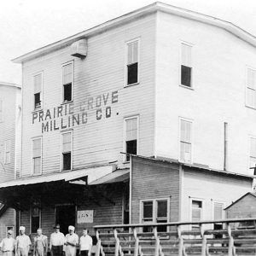
[[[41,174],[42,166],[42,139],[35,138],[32,140],[32,174]]]

